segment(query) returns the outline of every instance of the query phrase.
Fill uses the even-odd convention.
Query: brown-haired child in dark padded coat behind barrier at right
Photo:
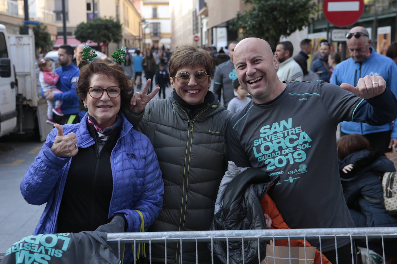
[[[370,151],[369,141],[362,135],[341,137],[337,148],[343,195],[356,226],[397,226],[397,218],[388,215],[384,207],[382,188],[383,174],[395,171],[393,162],[381,152]],[[385,239],[386,256],[397,256],[393,240]],[[356,245],[366,247],[365,241],[356,241]],[[371,239],[369,247],[383,255],[380,239]]]

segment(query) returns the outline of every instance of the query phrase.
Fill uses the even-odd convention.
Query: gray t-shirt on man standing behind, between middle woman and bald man
[[[233,63],[229,60],[226,61],[216,68],[214,75],[214,92],[218,95],[220,101],[220,95],[223,92],[223,105],[227,108],[227,104],[234,95],[233,82],[237,79],[237,73],[234,69]]]

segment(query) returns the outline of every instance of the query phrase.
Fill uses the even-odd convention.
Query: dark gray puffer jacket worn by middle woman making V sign
[[[189,116],[172,94],[168,99],[152,99],[145,107],[138,130],[152,142],[164,179],[163,210],[150,232],[210,229],[227,169],[225,137],[232,114],[208,93],[212,103],[195,116]],[[168,262],[180,262],[180,250],[179,243],[168,243]],[[195,243],[183,243],[182,253],[183,263],[196,263]],[[152,261],[164,263],[164,244],[152,243]],[[208,262],[211,253],[206,243],[198,243],[198,263]]]

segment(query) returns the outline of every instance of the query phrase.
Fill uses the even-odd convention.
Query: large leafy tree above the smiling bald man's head
[[[311,0],[243,0],[252,6],[229,22],[244,37],[263,38],[274,48],[281,36],[289,36],[312,22],[317,6]]]

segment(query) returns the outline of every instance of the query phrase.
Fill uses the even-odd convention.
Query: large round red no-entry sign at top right
[[[364,11],[364,0],[324,0],[325,18],[337,27],[347,27],[355,23]]]

